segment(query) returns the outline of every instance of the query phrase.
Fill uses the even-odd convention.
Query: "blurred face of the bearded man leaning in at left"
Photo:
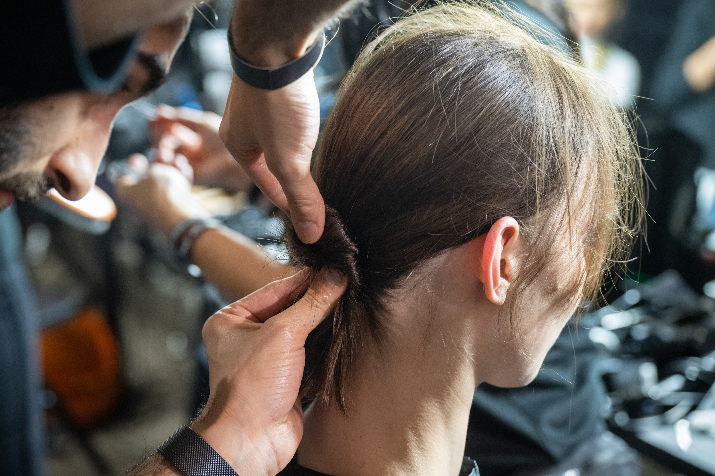
[[[147,30],[137,61],[117,91],[73,91],[19,106],[23,122],[11,132],[16,133],[17,154],[9,166],[0,163],[0,211],[14,198],[34,201],[52,187],[69,200],[87,194],[107,150],[114,116],[162,84],[189,20],[187,15]]]

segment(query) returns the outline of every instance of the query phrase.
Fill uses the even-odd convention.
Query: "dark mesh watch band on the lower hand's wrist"
[[[157,452],[185,476],[238,476],[226,460],[187,425],[181,425]]]

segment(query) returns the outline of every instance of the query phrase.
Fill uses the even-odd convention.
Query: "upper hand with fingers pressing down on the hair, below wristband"
[[[315,243],[325,223],[325,204],[310,175],[319,126],[312,71],[275,91],[233,75],[219,135],[265,196],[288,213],[304,243]]]

